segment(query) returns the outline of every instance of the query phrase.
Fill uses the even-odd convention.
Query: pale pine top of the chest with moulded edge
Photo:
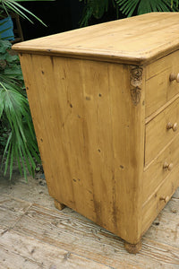
[[[147,13],[13,46],[20,52],[144,64],[179,48],[179,13]]]

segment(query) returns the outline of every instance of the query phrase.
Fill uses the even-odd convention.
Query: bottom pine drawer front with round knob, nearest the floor
[[[142,207],[141,233],[149,229],[151,223],[156,219],[158,213],[164,208],[175,189],[179,187],[179,167],[173,169],[172,173],[165,178],[158,189],[151,195],[149,201]]]

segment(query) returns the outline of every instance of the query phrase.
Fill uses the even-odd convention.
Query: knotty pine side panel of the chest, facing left
[[[137,242],[144,93],[132,100],[131,67],[28,54],[21,66],[50,195]]]

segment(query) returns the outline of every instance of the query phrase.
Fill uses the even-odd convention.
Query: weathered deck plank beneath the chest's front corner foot
[[[13,229],[113,268],[179,267],[178,247],[144,239],[141,253],[132,256],[124,250],[122,239],[93,222],[81,220],[78,215],[72,217],[48,210],[38,204],[33,204]]]

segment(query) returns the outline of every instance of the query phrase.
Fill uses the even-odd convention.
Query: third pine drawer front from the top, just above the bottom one
[[[174,169],[179,168],[179,134],[166,149],[158,155],[149,167],[144,171],[143,178],[143,203],[155,192],[158,186],[166,177],[173,173]]]

